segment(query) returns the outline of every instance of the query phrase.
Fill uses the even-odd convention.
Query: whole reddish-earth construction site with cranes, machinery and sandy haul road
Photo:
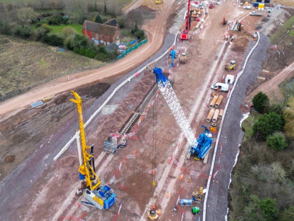
[[[144,46],[0,104],[1,220],[226,220],[245,96],[287,12],[258,30],[267,11],[239,1],[140,7]]]

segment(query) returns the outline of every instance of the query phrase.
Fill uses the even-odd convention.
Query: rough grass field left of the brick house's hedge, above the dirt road
[[[0,96],[53,78],[98,68],[100,61],[72,51],[0,35]]]

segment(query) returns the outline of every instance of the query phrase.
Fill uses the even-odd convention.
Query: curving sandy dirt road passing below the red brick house
[[[9,116],[16,114],[18,111],[27,107],[31,103],[39,101],[44,97],[54,96],[63,91],[78,88],[82,85],[93,84],[94,82],[111,76],[125,74],[137,67],[139,64],[148,60],[163,45],[166,22],[162,21],[166,21],[168,19],[173,10],[172,7],[174,2],[175,0],[167,1],[164,6],[161,7],[159,16],[157,16],[151,24],[144,27],[148,37],[148,43],[141,46],[138,50],[132,52],[116,63],[107,65],[101,69],[77,73],[71,81],[69,81],[68,77],[65,76],[36,87],[28,93],[7,100],[0,104],[0,117],[3,118],[9,113]],[[154,27],[157,28],[154,29]],[[0,118],[0,120],[3,119]]]

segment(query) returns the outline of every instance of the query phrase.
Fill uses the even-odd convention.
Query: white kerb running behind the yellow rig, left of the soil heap
[[[178,36],[179,32],[176,34],[175,36],[175,40],[173,43],[173,46],[176,45],[176,41],[177,41],[177,36]],[[155,59],[153,62],[150,63],[155,63],[158,62],[159,60],[161,60],[166,54],[168,54],[170,52],[170,50],[168,49],[165,53],[163,53],[163,55],[161,55],[159,58]],[[104,101],[104,103],[94,112],[93,115],[91,115],[91,117],[89,118],[89,120],[84,124],[84,128],[86,128],[86,126],[94,119],[94,117],[96,117],[96,115],[102,110],[102,108],[110,101],[110,99],[115,95],[115,93],[126,83],[128,83],[131,79],[135,78],[138,76],[139,73],[143,72],[144,70],[146,70],[148,64],[145,65],[144,67],[142,67],[137,73],[133,74],[132,76],[130,76],[129,78],[127,78],[125,81],[123,81],[120,85],[118,85],[113,92],[111,93],[111,95]],[[78,134],[80,134],[80,130],[78,131]],[[72,138],[63,146],[63,148],[59,151],[59,153],[53,158],[54,161],[56,161],[67,149],[68,147],[72,144],[72,142],[76,139],[76,136],[72,136]]]

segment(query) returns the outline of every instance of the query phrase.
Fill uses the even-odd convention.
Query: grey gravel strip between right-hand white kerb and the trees
[[[247,54],[249,54],[254,44],[255,42],[249,43],[246,52]],[[240,111],[240,106],[245,105],[243,99],[245,97],[247,87],[256,82],[256,79],[261,71],[262,63],[266,58],[266,50],[268,49],[269,45],[269,39],[260,33],[260,41],[258,46],[250,56],[243,75],[239,78],[238,82],[235,82],[237,85],[231,96],[219,140],[222,144],[220,168],[209,188],[206,213],[207,220],[209,221],[226,220],[226,214],[228,211],[228,186],[230,184],[230,174],[235,164],[236,155],[239,152],[239,145],[242,139],[240,120],[243,117],[243,113]],[[244,64],[242,64],[242,67],[243,65]],[[218,148],[216,153],[214,172],[217,171],[219,154],[220,148]]]

